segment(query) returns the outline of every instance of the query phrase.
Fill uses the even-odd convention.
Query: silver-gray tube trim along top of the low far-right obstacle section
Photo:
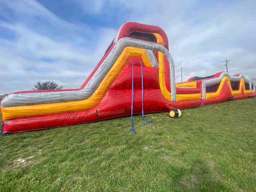
[[[218,78],[208,79],[208,80],[203,80],[202,81],[202,99],[203,100],[206,99],[206,86],[210,86],[210,85],[220,83],[222,78],[225,77],[225,76],[228,77],[230,79],[230,81],[240,81],[241,78],[243,78],[244,82],[250,84],[250,90],[252,89],[252,82],[251,82],[249,77],[244,76],[242,74],[240,74],[240,76],[230,76],[230,74],[228,74],[226,72],[223,72],[222,74],[220,74],[220,76]],[[254,90],[254,92],[255,92],[255,90]]]

